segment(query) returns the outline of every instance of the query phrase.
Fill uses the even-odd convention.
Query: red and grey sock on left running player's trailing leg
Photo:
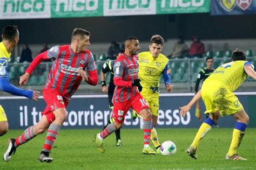
[[[30,126],[28,129],[26,129],[21,136],[17,137],[15,139],[15,143],[14,146],[17,147],[19,145],[22,145],[24,143],[26,143],[27,141],[31,140],[32,138],[34,138],[36,135],[33,132],[33,127],[34,126]]]

